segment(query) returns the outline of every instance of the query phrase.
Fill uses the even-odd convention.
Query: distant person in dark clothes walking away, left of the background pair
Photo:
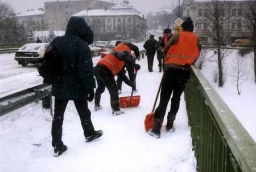
[[[150,38],[143,45],[147,53],[147,68],[149,72],[153,71],[153,62],[154,62],[154,56],[155,56],[155,50],[156,50],[155,45],[156,45],[156,40],[154,39],[154,35],[150,35]]]

